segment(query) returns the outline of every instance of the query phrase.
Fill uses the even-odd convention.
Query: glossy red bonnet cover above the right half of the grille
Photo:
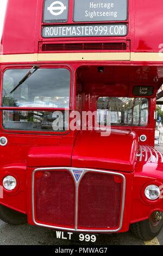
[[[111,130],[78,133],[72,154],[72,166],[133,172],[137,152],[134,132]]]

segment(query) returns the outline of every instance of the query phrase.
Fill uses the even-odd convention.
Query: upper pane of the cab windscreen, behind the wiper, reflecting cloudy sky
[[[29,69],[8,69],[3,75],[3,107],[69,108],[71,74],[68,69],[37,69],[10,93]]]

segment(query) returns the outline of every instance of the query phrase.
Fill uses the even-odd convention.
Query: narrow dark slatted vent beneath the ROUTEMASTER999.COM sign
[[[127,50],[126,42],[78,43],[78,44],[42,44],[43,52],[64,51],[120,51]]]

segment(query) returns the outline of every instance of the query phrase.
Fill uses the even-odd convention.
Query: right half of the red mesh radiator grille
[[[114,175],[86,173],[79,187],[80,228],[116,228],[120,219],[122,183]]]

